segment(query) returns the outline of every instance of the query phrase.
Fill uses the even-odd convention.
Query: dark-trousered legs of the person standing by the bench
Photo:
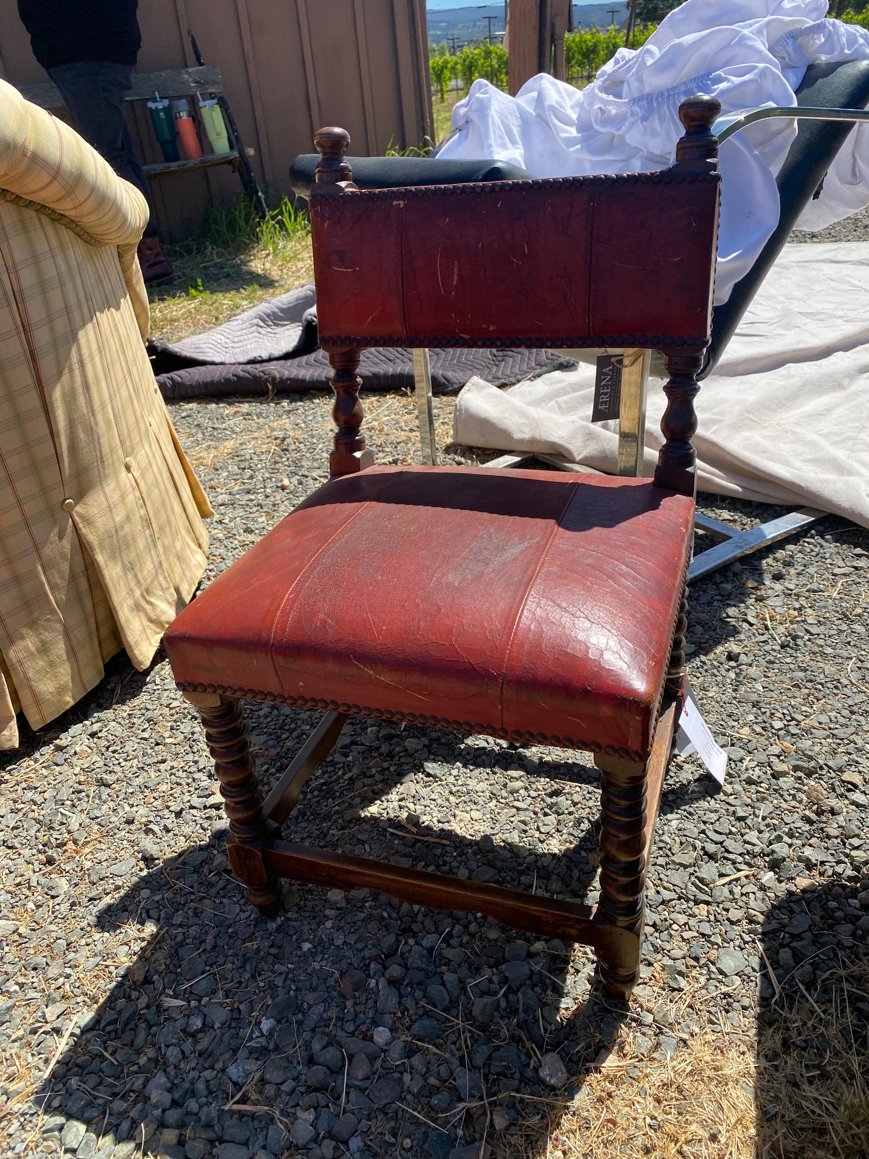
[[[132,68],[111,60],[76,60],[50,68],[49,75],[75,118],[75,126],[115,173],[145,196],[151,209],[151,188],[126,124],[124,94],[132,87]],[[153,209],[139,243],[139,263],[146,282],[171,276],[160,248]]]

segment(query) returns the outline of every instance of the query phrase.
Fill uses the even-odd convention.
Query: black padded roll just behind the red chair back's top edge
[[[290,184],[299,197],[309,197],[319,153],[300,153],[290,167]],[[527,181],[535,176],[506,161],[450,161],[431,156],[349,156],[359,189],[397,189],[401,185],[458,185],[469,181]]]

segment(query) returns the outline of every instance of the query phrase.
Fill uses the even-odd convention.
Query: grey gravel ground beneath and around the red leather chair
[[[409,461],[411,400],[367,407],[379,461]],[[322,396],[171,406],[217,512],[206,582],[326,478],[328,411]],[[436,411],[445,446],[452,401]],[[700,506],[744,526],[776,513]],[[823,1004],[867,947],[868,605],[869,533],[834,517],[692,588],[688,671],[731,764],[722,792],[695,758],[667,774],[630,1011],[593,992],[583,948],[481,916],[299,885],[261,920],[168,664],[116,657],[0,758],[3,1153],[556,1154],[560,1121],[600,1118],[583,1098],[601,1057],[666,1071],[714,1032],[751,1062],[775,992]],[[244,710],[269,783],[317,714]],[[587,755],[352,721],[286,832],[593,902],[598,803]],[[863,1057],[868,996],[853,1013]],[[744,1089],[760,1146],[776,1107]],[[651,1124],[621,1153],[658,1153]],[[731,1153],[696,1129],[691,1153]]]

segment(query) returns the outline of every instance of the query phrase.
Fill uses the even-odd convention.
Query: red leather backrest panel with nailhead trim
[[[355,190],[311,198],[323,349],[702,350],[717,172]]]

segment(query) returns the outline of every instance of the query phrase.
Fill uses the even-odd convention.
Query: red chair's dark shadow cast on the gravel
[[[272,724],[290,715],[306,728],[317,716],[301,709],[276,712]],[[264,726],[257,709],[246,706],[246,715],[251,732],[262,736]],[[357,730],[367,724],[357,722]],[[266,735],[262,749],[269,750],[273,743]],[[268,787],[279,773],[278,761],[270,763],[268,752],[258,756]],[[510,756],[516,759],[512,749]],[[538,767],[531,765],[523,775],[541,787],[543,782],[552,785],[550,775],[568,775],[562,766],[550,768],[546,761]],[[306,793],[339,799],[345,793],[342,771],[342,766],[323,766]],[[477,770],[479,775],[488,772],[489,767]],[[597,770],[590,765],[572,765],[569,775],[577,786],[597,785],[598,780]],[[385,771],[371,799],[389,794],[397,781],[397,775]],[[304,804],[302,799],[299,814]],[[393,860],[399,860],[410,844],[415,846],[415,860],[432,865],[431,850],[440,851],[441,845],[387,836],[388,828],[406,824],[401,796],[395,794],[387,830],[381,818],[377,831],[378,840],[385,839],[387,846],[384,855],[392,851]],[[342,836],[358,840],[362,828],[363,822],[353,819]],[[450,840],[461,851],[463,861],[454,862],[452,872],[463,863],[465,872],[477,880],[491,880],[503,872],[506,860],[513,860],[520,872],[528,870],[528,881],[520,881],[520,888],[533,884],[541,891],[549,885],[550,892],[562,896],[570,889],[583,901],[596,873],[597,819],[589,818],[587,825],[579,828],[585,831],[580,836],[572,833],[570,845],[558,854],[517,845],[502,848],[491,838],[459,838],[443,828],[432,828],[430,836]],[[335,840],[317,836],[321,844]],[[424,836],[429,836],[428,830]],[[533,880],[528,861],[533,862]],[[468,866],[476,868],[469,870]],[[95,899],[92,894],[92,902]],[[594,1059],[618,1038],[627,1014],[626,1006],[605,998],[594,986],[590,990],[591,952],[571,964],[569,948],[560,942],[536,942],[491,923],[487,926],[481,916],[475,924],[472,913],[425,911],[364,890],[348,895],[343,903],[358,907],[359,920],[342,924],[349,941],[338,954],[335,946],[339,943],[323,926],[323,911],[342,903],[330,902],[321,889],[292,884],[286,901],[290,907],[276,921],[261,919],[229,873],[222,837],[212,837],[206,844],[151,867],[121,896],[109,894],[97,902],[96,930],[104,934],[123,931],[122,941],[129,953],[116,957],[109,950],[95,952],[93,960],[80,962],[89,971],[109,969],[116,981],[80,1033],[71,1036],[53,1074],[38,1092],[44,1115],[63,1114],[86,1124],[73,1131],[94,1135],[82,1154],[88,1146],[98,1151],[100,1140],[108,1144],[110,1135],[124,1144],[119,1159],[127,1151],[132,1156],[131,1144],[136,1144],[137,1153],[160,1150],[166,1159],[200,1159],[213,1145],[227,1142],[248,1146],[248,1152],[255,1154],[284,1138],[283,1134],[277,1139],[273,1134],[270,1137],[268,1128],[291,1130],[299,1110],[312,1111],[308,1118],[314,1120],[316,1129],[305,1152],[309,1159],[334,1159],[351,1142],[357,1159],[382,1153],[384,1140],[396,1130],[394,1122],[387,1122],[390,1114],[400,1116],[401,1139],[395,1145],[409,1159],[446,1159],[457,1149],[463,1149],[458,1151],[462,1159],[470,1159],[474,1145],[479,1154],[483,1142],[495,1145],[496,1153],[516,1154],[521,1149],[531,1154],[540,1147],[545,1151],[541,1140],[554,1130],[563,1107],[592,1072]],[[232,940],[243,948],[242,958],[225,950],[224,931],[229,926]],[[470,943],[457,950],[468,926]],[[401,948],[388,945],[392,934],[402,942]],[[434,967],[433,949],[453,934],[458,938],[452,936],[452,957],[444,954],[443,965]],[[423,958],[431,964],[417,975],[414,965],[419,963],[408,960],[409,938],[428,946]],[[524,938],[527,941],[523,943]],[[317,954],[317,943],[323,945],[323,940],[333,945],[328,954]],[[523,965],[518,968],[512,987],[498,974],[504,965],[505,943],[517,943],[511,955],[527,964],[527,971]],[[341,965],[337,972],[336,962]],[[384,1098],[368,1102],[368,1083],[362,1079],[344,1089],[343,1058],[341,1073],[330,1072],[326,1087],[329,1094],[324,1093],[322,1077],[319,1086],[308,1089],[306,1074],[312,1064],[316,1067],[317,1051],[324,1045],[317,1042],[317,1035],[327,1034],[333,1040],[336,1034],[343,1036],[342,1049],[349,1050],[352,1060],[359,1041],[353,1034],[357,1015],[348,1014],[348,1009],[356,1011],[360,1000],[373,999],[377,1005],[384,971],[393,964],[407,969],[404,981],[416,989],[406,987],[397,1023],[389,1013],[368,1009],[365,1016],[390,1027],[395,1040],[406,1042],[411,1052],[422,1050],[424,1064],[417,1060],[410,1065],[397,1056],[392,1059],[388,1051],[380,1059],[380,1050],[368,1041],[365,1050],[374,1054],[375,1066],[400,1079],[399,1092],[387,1089],[387,1102]],[[582,992],[575,985],[577,968],[586,976]],[[445,972],[451,971],[455,971],[451,1000],[445,1001],[447,992],[443,987],[437,997],[430,996],[428,987],[439,986],[446,981]],[[465,996],[461,1006],[459,985]],[[428,1001],[430,997],[432,1003]],[[492,999],[492,1021],[482,1030],[472,1016],[474,1000],[481,997]],[[228,1026],[227,1012],[232,1012]],[[336,1030],[342,1023],[343,1029]],[[46,1038],[39,1049],[46,1060],[53,1042],[50,1047]],[[399,1054],[404,1049],[397,1048]],[[540,1081],[539,1069],[549,1055],[557,1055],[567,1066],[563,1078],[570,1079],[562,1083],[562,1088]],[[330,1065],[334,1063],[333,1056]],[[155,1077],[161,1091],[154,1095]],[[244,1093],[243,1106],[263,1105],[263,1110],[236,1111],[238,1122],[226,1127],[222,1120],[232,1120],[233,1114],[227,1115],[224,1108],[238,1096],[239,1084],[250,1077],[255,1080]],[[238,1081],[233,1083],[233,1078]],[[408,1081],[414,1079],[418,1081],[411,1093],[426,1093],[424,1103],[415,1103],[416,1114],[407,1110],[406,1094]],[[434,1092],[438,1101],[431,1103],[429,1096]],[[396,1093],[401,1095],[397,1100]],[[321,1116],[323,1106],[326,1113]],[[329,1132],[335,1130],[342,1106],[346,1111],[352,1108],[358,1123],[349,1138],[335,1139]],[[364,1130],[366,1122],[370,1125]],[[410,1140],[409,1147],[403,1146],[404,1138]],[[315,1146],[319,1154],[312,1151]],[[221,1159],[244,1156],[241,1151],[221,1152]]]

